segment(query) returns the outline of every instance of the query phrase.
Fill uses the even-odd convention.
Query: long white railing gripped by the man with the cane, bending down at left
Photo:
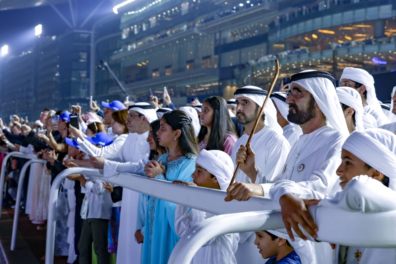
[[[91,168],[68,168],[56,176],[51,186],[48,205],[47,241],[46,241],[46,264],[53,264],[53,251],[55,245],[55,207],[58,198],[58,190],[61,182],[70,174],[84,174],[97,178],[104,178],[98,170]],[[106,178],[107,182],[122,186],[133,191],[138,191],[158,199],[188,206],[197,210],[204,210],[213,214],[229,214],[236,212],[249,212],[257,209],[279,209],[271,199],[267,197],[251,197],[249,201],[225,202],[225,191],[196,187],[181,186],[168,181],[156,180],[130,173],[120,173],[114,177]],[[78,212],[76,212],[78,213]]]

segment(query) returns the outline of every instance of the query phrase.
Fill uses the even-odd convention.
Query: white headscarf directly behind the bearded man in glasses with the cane
[[[337,87],[335,88],[337,91],[338,99],[340,103],[344,105],[348,105],[355,110],[355,121],[356,121],[356,129],[362,130],[364,129],[363,126],[363,103],[362,97],[354,88],[350,87]]]

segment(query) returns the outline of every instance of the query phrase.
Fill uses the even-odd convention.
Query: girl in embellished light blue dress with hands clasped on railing
[[[192,182],[198,142],[188,115],[180,110],[165,113],[157,131],[158,142],[169,149],[150,161],[145,174],[150,178],[173,182]],[[179,237],[175,232],[176,204],[149,197],[145,217],[142,264],[167,264]]]

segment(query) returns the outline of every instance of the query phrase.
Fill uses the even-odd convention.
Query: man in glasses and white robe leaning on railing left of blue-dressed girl
[[[115,176],[120,172],[143,174],[150,154],[150,145],[147,142],[148,129],[150,122],[157,119],[154,108],[153,105],[143,102],[129,106],[126,121],[129,134],[124,145],[111,160],[90,156],[91,166],[103,169],[106,177]],[[134,237],[138,200],[138,192],[124,188],[118,236],[118,264],[139,264],[141,260],[141,245],[138,245]]]

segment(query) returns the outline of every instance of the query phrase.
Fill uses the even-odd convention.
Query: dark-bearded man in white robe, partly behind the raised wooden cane
[[[236,102],[236,118],[238,123],[243,124],[246,134],[241,136],[235,143],[231,159],[236,168],[238,163],[238,152],[256,153],[257,163],[249,170],[247,166],[242,164],[235,181],[237,184],[246,182],[260,184],[263,182],[263,175],[268,178],[276,176],[282,170],[289,153],[290,145],[286,138],[282,135],[283,130],[278,124],[276,118],[276,109],[271,100],[267,101],[264,113],[261,115],[259,124],[251,139],[250,145],[244,147],[253,130],[254,123],[259,115],[261,106],[263,106],[267,91],[255,87],[245,86],[234,93]],[[243,147],[243,149],[241,149]],[[263,262],[263,258],[257,254],[257,247],[254,245],[254,232],[240,233],[240,241],[235,257],[238,263],[254,264]]]

